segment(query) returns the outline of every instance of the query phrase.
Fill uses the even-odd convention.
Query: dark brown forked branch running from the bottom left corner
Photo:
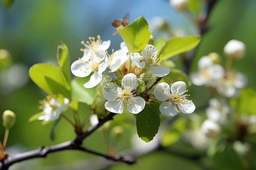
[[[114,157],[114,156],[109,156],[109,155],[104,155],[98,152],[95,152],[93,150],[88,150],[82,146],[82,141],[89,135],[92,134],[95,130],[97,130],[100,126],[102,126],[105,122],[108,120],[112,120],[113,116],[116,115],[115,113],[110,113],[106,118],[99,120],[99,123],[95,126],[91,126],[88,128],[88,130],[84,133],[78,134],[75,140],[73,141],[67,141],[63,142],[61,144],[57,145],[52,145],[48,147],[40,147],[36,150],[31,150],[28,152],[16,154],[14,156],[7,157],[6,159],[2,160],[0,162],[0,170],[7,170],[10,165],[20,162],[23,160],[30,160],[34,158],[39,158],[39,157],[46,157],[47,154],[52,153],[52,152],[57,152],[61,150],[82,150],[88,153],[92,153],[94,155],[99,155],[102,157],[105,157],[108,160],[113,160],[113,161],[121,161],[125,162],[127,164],[134,164],[137,163],[136,160],[134,160],[132,157],[126,156],[126,157]]]

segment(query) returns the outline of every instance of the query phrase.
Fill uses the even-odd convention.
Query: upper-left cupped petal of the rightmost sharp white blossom
[[[154,89],[154,96],[159,101],[165,101],[171,97],[170,86],[167,83],[159,83]]]

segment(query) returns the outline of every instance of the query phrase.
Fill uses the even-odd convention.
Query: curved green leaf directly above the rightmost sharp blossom
[[[163,80],[168,84],[176,81],[184,81],[187,87],[189,86],[188,76],[183,71],[174,68],[171,68],[169,75],[164,76]]]

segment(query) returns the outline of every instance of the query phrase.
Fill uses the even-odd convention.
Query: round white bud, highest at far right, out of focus
[[[224,53],[227,57],[239,60],[243,58],[246,54],[246,45],[239,40],[230,40],[224,46]]]

